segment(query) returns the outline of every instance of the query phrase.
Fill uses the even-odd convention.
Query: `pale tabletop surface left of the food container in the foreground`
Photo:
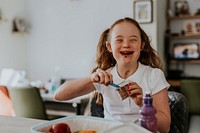
[[[31,133],[31,127],[44,120],[0,115],[0,133]]]

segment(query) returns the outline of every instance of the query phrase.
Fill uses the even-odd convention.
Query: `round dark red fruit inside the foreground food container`
[[[57,123],[52,126],[53,133],[71,133],[71,129],[66,123]]]

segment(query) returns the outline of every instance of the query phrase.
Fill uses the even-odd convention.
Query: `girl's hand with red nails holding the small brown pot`
[[[135,104],[137,104],[139,107],[142,107],[142,88],[136,82],[131,82],[128,84],[128,87],[126,87],[126,91],[129,96],[134,100]]]

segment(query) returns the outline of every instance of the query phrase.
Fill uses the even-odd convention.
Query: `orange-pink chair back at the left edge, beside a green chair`
[[[6,86],[0,86],[0,115],[13,116],[13,105]]]

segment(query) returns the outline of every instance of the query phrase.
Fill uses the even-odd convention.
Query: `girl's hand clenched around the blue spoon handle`
[[[113,82],[112,74],[101,69],[97,69],[97,72],[92,73],[91,82],[100,83],[108,86],[109,82]]]

